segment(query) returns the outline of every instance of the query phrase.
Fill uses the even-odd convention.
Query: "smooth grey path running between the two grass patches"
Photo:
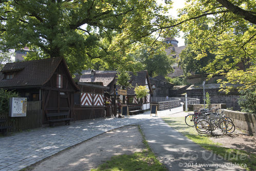
[[[173,114],[177,117],[184,115],[185,112]],[[161,118],[139,124],[153,153],[169,170],[246,170],[195,144]]]

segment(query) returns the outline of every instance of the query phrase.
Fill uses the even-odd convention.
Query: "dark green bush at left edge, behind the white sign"
[[[9,112],[9,99],[19,97],[19,94],[14,91],[0,89],[0,112]]]

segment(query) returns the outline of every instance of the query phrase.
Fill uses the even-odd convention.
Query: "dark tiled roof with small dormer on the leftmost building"
[[[62,58],[7,63],[0,72],[0,87],[42,86],[54,73]],[[12,79],[4,79],[4,73],[14,72]]]

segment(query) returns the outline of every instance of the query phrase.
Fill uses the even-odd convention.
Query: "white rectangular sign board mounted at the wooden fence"
[[[9,117],[26,117],[27,98],[10,98]]]

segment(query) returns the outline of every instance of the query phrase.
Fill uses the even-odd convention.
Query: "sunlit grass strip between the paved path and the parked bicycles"
[[[185,123],[185,117],[162,118],[171,127],[175,128],[182,135],[207,150],[212,150],[215,154],[222,156],[225,160],[239,165],[246,164],[247,170],[256,170],[256,155],[247,153],[244,150],[222,147],[220,143],[215,143],[209,139],[210,135],[198,134],[195,127],[190,127]]]

